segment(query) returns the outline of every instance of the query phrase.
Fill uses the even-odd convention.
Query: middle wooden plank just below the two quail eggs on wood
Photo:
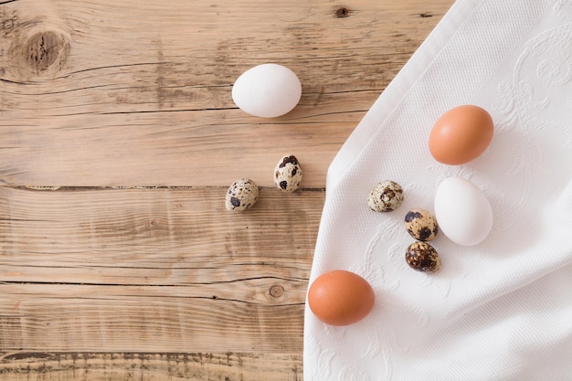
[[[324,191],[262,187],[244,213],[225,209],[226,191],[2,186],[0,275],[126,285],[307,278]]]

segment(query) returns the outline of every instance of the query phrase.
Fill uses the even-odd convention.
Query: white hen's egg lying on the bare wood
[[[242,73],[232,87],[232,100],[242,111],[261,118],[290,112],[302,97],[298,76],[284,66],[267,63]]]

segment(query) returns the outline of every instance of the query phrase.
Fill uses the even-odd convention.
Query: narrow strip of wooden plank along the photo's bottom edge
[[[302,380],[302,355],[241,353],[7,353],[6,381]]]

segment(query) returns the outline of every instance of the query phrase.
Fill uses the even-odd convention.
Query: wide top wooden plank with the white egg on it
[[[4,3],[0,179],[222,186],[249,175],[269,186],[294,153],[304,186],[323,186],[324,168],[450,3]],[[269,61],[298,73],[300,106],[249,117],[232,83]]]

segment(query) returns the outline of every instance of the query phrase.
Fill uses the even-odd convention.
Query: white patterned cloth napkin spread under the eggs
[[[439,164],[429,132],[461,104],[488,110],[493,143]],[[493,206],[493,230],[461,247],[432,241],[441,269],[408,268],[409,208],[433,210],[459,175]],[[366,198],[397,181],[405,202]],[[331,164],[310,282],[353,270],[376,291],[361,322],[334,327],[306,307],[304,380],[572,380],[572,0],[459,0]]]

